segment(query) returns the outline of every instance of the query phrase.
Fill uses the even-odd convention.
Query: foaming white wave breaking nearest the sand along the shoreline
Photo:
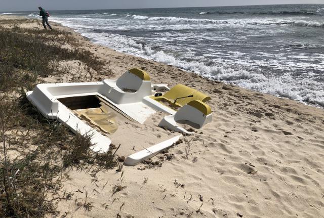
[[[226,64],[208,66],[199,61],[181,60],[161,50],[154,50],[149,45],[138,43],[133,39],[118,34],[110,34],[107,37],[114,41],[138,49],[147,59],[173,65],[181,69],[198,73],[202,76],[233,83],[246,89],[285,97],[308,104],[324,107],[324,83],[309,80],[307,78],[296,81],[290,74],[281,76],[265,76],[260,73],[246,70],[235,70]]]

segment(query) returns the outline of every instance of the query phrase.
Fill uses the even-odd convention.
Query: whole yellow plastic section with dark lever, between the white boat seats
[[[167,101],[172,107],[183,107],[185,104],[193,100],[200,100],[201,102],[207,102],[211,100],[211,97],[209,97],[208,95],[194,90],[183,84],[175,85],[163,96],[152,96],[151,98],[158,102]]]

